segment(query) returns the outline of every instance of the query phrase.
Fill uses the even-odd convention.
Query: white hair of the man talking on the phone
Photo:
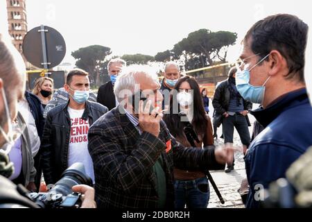
[[[120,103],[124,99],[124,95],[131,96],[139,91],[135,81],[135,75],[143,73],[146,78],[155,80],[158,83],[157,72],[153,67],[148,65],[130,65],[123,67],[121,73],[117,76],[116,83],[114,84],[114,94],[117,101]]]

